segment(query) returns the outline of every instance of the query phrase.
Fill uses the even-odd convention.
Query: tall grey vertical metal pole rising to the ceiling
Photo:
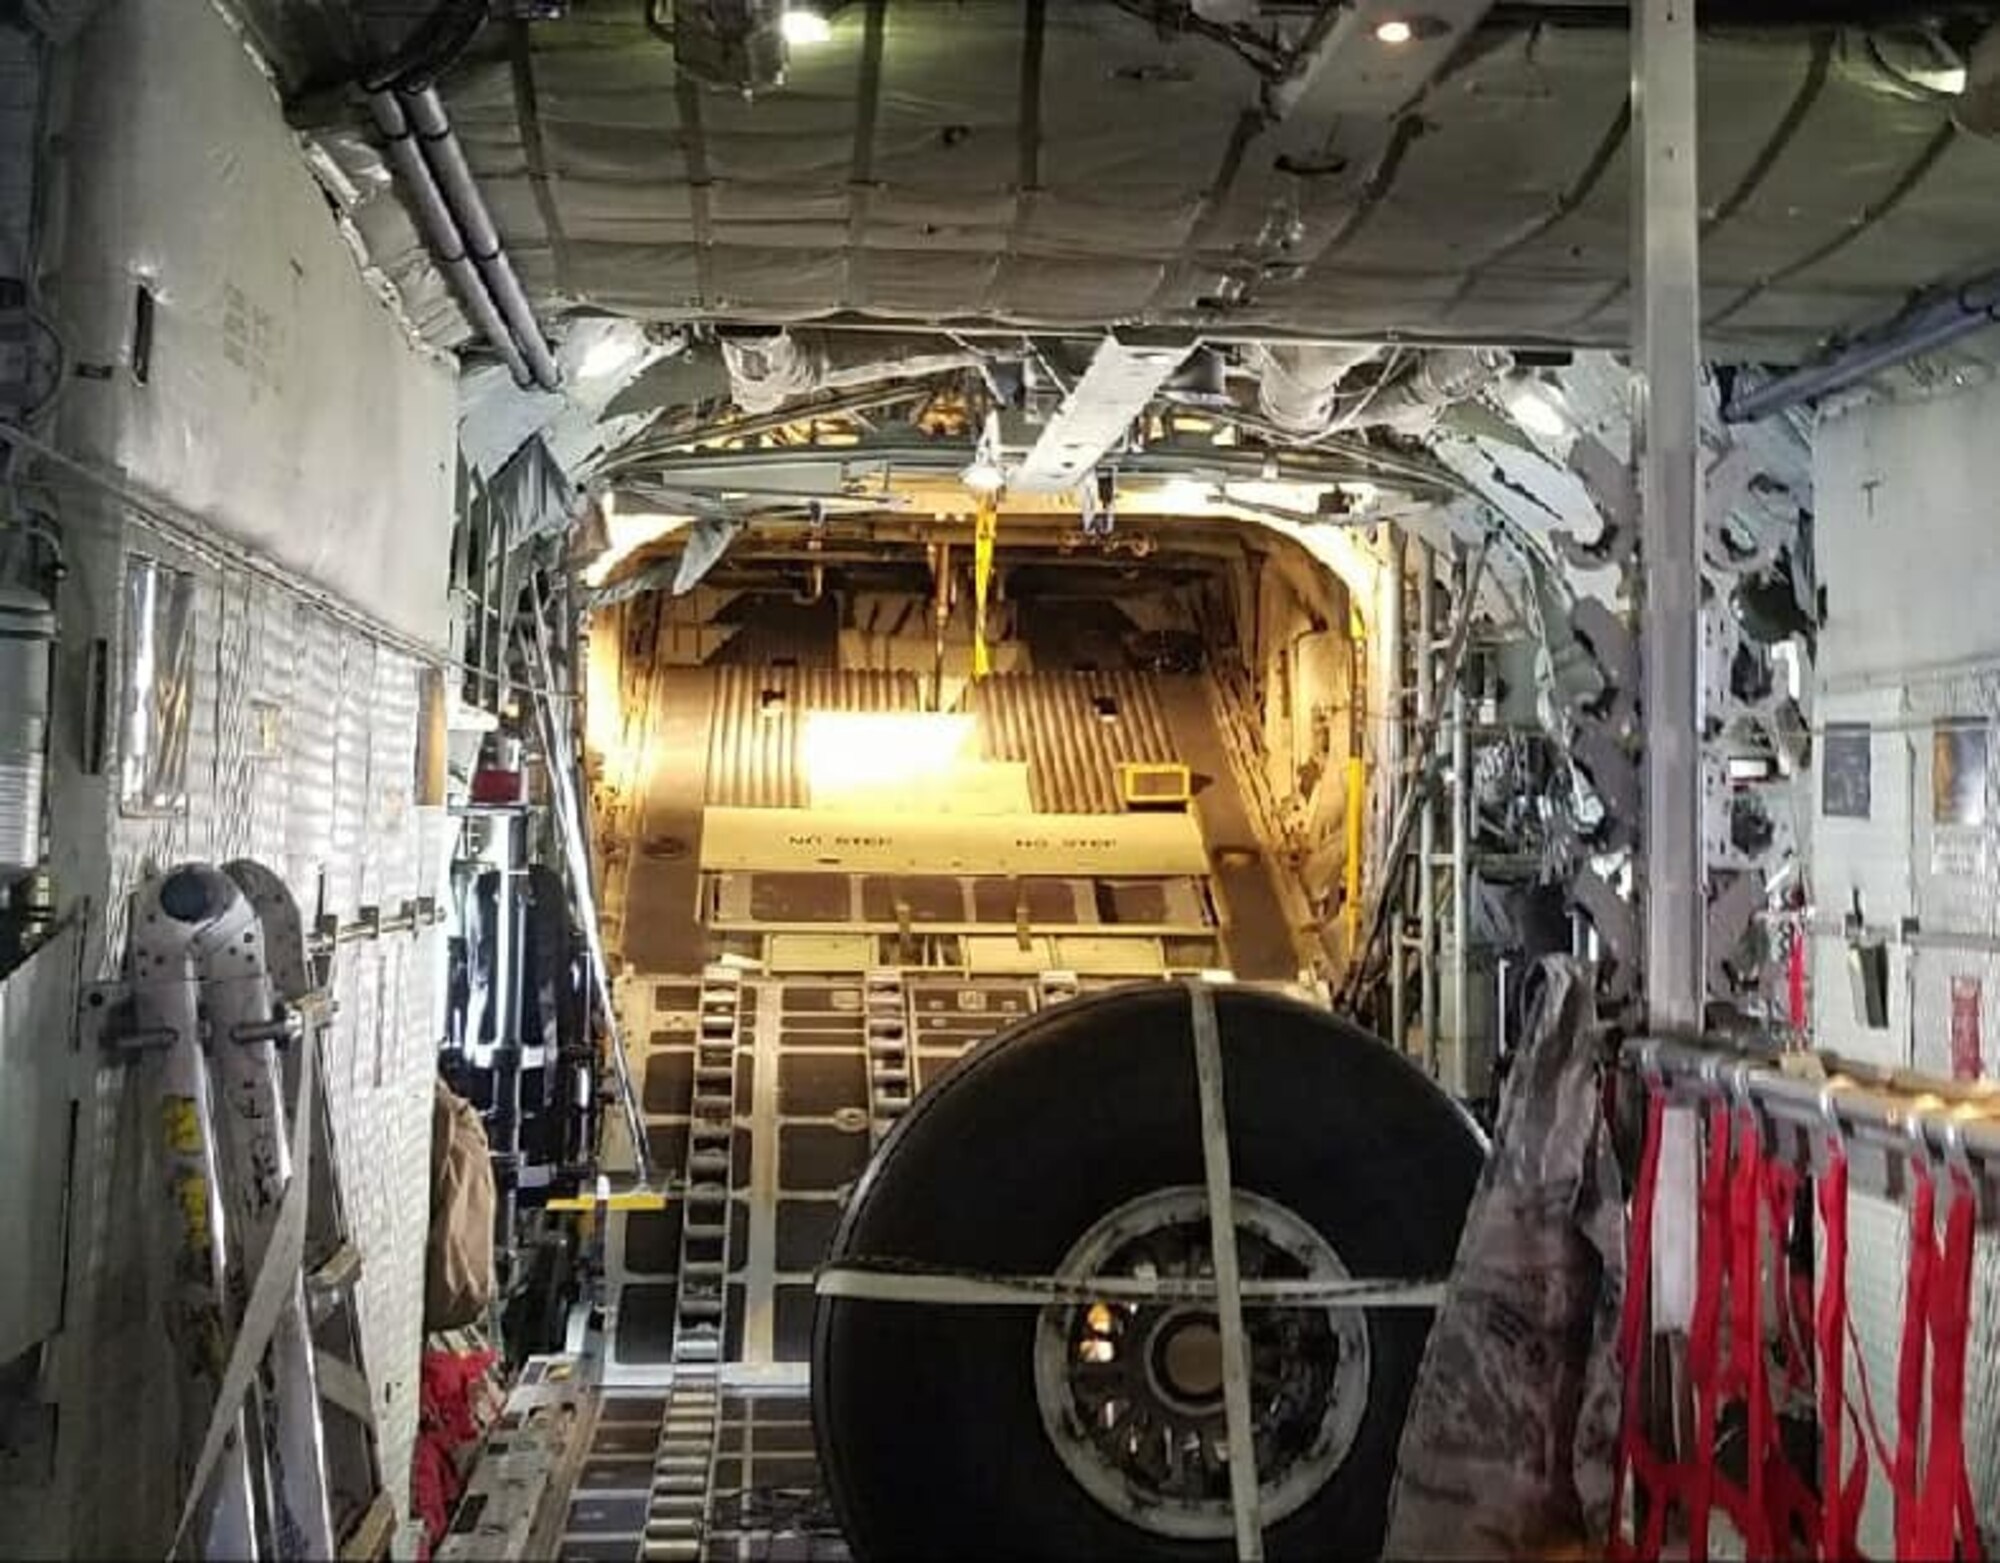
[[[1632,432],[1640,464],[1646,724],[1646,1011],[1702,1029],[1700,208],[1694,4],[1640,0],[1632,32],[1640,148],[1640,310]]]

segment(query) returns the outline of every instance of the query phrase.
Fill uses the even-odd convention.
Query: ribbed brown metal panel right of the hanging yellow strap
[[[1100,700],[1114,702],[1114,716]],[[1118,766],[1174,760],[1148,674],[998,674],[968,704],[986,758],[1028,764],[1042,813],[1120,813]]]

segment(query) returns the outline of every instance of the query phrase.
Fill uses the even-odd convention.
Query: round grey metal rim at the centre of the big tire
[[[1274,1199],[1236,1193],[1244,1279],[1348,1279],[1340,1255]],[[1158,1189],[1120,1205],[1064,1255],[1060,1275],[1214,1275],[1208,1197]],[[1266,1525],[1296,1513],[1346,1461],[1368,1409],[1360,1309],[1250,1307],[1250,1407]],[[1034,1335],[1034,1397],[1062,1465],[1144,1531],[1234,1531],[1222,1411],[1222,1333],[1200,1303],[1060,1303]]]

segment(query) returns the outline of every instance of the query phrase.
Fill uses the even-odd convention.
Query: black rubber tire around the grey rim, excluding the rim
[[[1270,993],[1216,989],[1234,1179],[1310,1221],[1358,1277],[1450,1269],[1484,1159],[1472,1119],[1368,1033]],[[896,1125],[830,1263],[1048,1273],[1086,1229],[1202,1183],[1188,993],[1148,983],[1032,1015],[964,1057]],[[1194,1563],[1062,1467],[1034,1397],[1030,1307],[822,1299],[812,1413],[860,1559],[1144,1557]],[[1430,1315],[1368,1317],[1370,1393],[1332,1479],[1272,1557],[1374,1557]]]

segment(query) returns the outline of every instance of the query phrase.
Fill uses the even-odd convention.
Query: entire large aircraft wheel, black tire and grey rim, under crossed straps
[[[1472,1121],[1322,1011],[1232,987],[1216,1011],[1244,1275],[1442,1275]],[[974,1051],[882,1145],[828,1259],[1202,1273],[1186,991],[1074,999]],[[1268,1555],[1376,1555],[1430,1315],[1252,1307],[1246,1329]],[[856,1557],[1234,1553],[1206,1309],[822,1299],[812,1391]]]

